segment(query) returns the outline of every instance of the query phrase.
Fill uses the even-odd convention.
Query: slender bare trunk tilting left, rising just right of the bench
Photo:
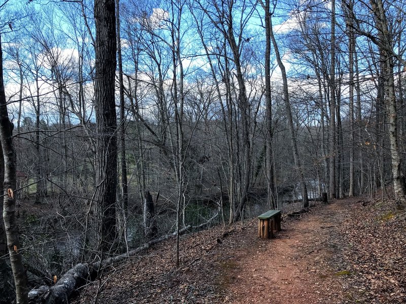
[[[274,45],[275,54],[276,54],[276,60],[278,62],[278,66],[282,73],[283,95],[284,95],[284,102],[285,102],[285,107],[286,107],[286,115],[288,118],[288,126],[289,126],[290,135],[292,136],[291,140],[292,140],[292,148],[293,148],[293,160],[295,163],[296,170],[299,172],[300,186],[301,186],[301,191],[302,191],[301,199],[303,202],[303,207],[307,208],[307,207],[309,207],[309,195],[308,195],[308,189],[306,186],[306,181],[304,180],[303,165],[299,159],[299,151],[297,149],[297,139],[296,139],[296,134],[295,134],[295,130],[293,127],[292,110],[290,108],[290,102],[289,102],[288,79],[287,79],[287,75],[286,75],[286,69],[285,69],[285,65],[282,62],[281,55],[279,53],[278,44],[276,43],[276,40],[275,40],[275,35],[274,35],[273,28],[272,28],[272,17],[269,18],[269,22],[270,22],[270,27],[269,27],[270,38],[272,39],[272,43]]]

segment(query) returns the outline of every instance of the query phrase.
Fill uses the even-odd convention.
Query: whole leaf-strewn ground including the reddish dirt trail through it
[[[116,265],[75,303],[406,303],[406,211],[353,198],[284,216],[272,240],[257,219],[184,236]]]

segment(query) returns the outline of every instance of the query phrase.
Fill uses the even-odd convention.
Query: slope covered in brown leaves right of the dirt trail
[[[351,288],[362,303],[406,303],[406,212],[393,201],[359,201],[341,228]]]

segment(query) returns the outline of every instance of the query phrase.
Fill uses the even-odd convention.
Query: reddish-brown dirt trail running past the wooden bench
[[[260,240],[238,251],[226,270],[233,303],[338,303],[342,282],[340,233],[353,200],[335,201],[282,223],[273,240]]]

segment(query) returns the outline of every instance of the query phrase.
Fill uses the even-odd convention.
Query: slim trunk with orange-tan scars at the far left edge
[[[0,143],[3,149],[4,181],[3,181],[3,221],[6,229],[7,247],[10,254],[16,288],[17,304],[28,303],[27,275],[22,262],[21,247],[18,240],[17,222],[15,217],[16,191],[16,154],[13,145],[13,124],[9,120],[7,100],[3,82],[3,51],[0,36]]]

